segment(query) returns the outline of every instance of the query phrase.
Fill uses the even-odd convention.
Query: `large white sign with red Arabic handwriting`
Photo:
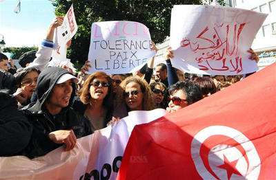
[[[170,24],[172,66],[193,74],[257,71],[247,52],[268,14],[211,5],[175,5]]]

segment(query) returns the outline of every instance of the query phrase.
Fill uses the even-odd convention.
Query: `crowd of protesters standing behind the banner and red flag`
[[[63,144],[71,150],[77,138],[119,122],[130,111],[173,113],[242,78],[185,74],[172,67],[170,47],[166,64],[153,67],[153,57],[133,74],[86,74],[89,61],[74,74],[69,65],[51,63],[54,32],[62,22],[55,17],[38,52],[23,54],[19,69],[0,53],[0,156],[34,158]],[[155,43],[151,50],[158,51]],[[249,54],[258,61],[252,49]]]

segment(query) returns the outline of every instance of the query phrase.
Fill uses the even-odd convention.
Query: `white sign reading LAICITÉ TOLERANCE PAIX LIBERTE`
[[[93,23],[88,60],[92,74],[126,74],[138,71],[148,58],[155,55],[150,51],[148,27],[132,21],[106,21]]]

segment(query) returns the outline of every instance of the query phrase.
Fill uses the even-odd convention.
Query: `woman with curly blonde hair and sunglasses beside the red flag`
[[[117,92],[117,105],[113,113],[116,119],[128,116],[129,111],[155,109],[152,91],[146,80],[130,76],[121,82],[120,87],[123,91]]]

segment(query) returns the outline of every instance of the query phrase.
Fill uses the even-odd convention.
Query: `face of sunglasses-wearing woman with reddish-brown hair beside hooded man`
[[[93,100],[103,100],[108,94],[109,86],[106,78],[95,78],[90,86],[91,98]]]

